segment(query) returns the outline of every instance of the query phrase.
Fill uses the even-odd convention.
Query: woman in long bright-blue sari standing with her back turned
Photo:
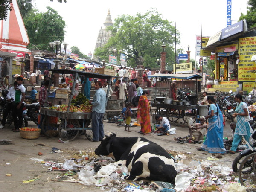
[[[208,151],[209,153],[224,154],[226,149],[223,145],[223,117],[220,108],[215,103],[213,96],[208,96],[207,101],[210,104],[208,116],[205,119],[209,119],[208,131],[206,140],[201,148],[197,148],[199,151]]]

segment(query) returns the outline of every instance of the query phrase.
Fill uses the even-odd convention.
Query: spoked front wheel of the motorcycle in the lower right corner
[[[256,190],[256,152],[247,155],[241,162],[238,177],[241,185],[247,187],[247,190]]]

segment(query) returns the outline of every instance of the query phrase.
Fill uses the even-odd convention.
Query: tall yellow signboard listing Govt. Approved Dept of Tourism
[[[256,55],[256,37],[239,38],[239,63],[238,63],[238,81],[255,81],[256,64],[251,61],[253,55]]]

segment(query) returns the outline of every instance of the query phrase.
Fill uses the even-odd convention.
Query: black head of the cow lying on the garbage
[[[113,141],[113,138],[116,137],[115,133],[110,133],[108,135],[105,135],[105,138],[102,140],[101,144],[95,149],[96,155],[108,155],[111,151],[111,144]]]

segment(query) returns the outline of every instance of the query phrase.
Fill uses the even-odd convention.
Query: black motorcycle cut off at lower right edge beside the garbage
[[[241,185],[247,187],[247,189],[249,189],[248,187],[250,187],[252,183],[255,183],[256,180],[256,150],[252,148],[256,147],[256,130],[251,134],[249,143],[250,148],[241,152],[244,158],[238,169],[239,181]],[[241,156],[241,153],[239,156]]]

